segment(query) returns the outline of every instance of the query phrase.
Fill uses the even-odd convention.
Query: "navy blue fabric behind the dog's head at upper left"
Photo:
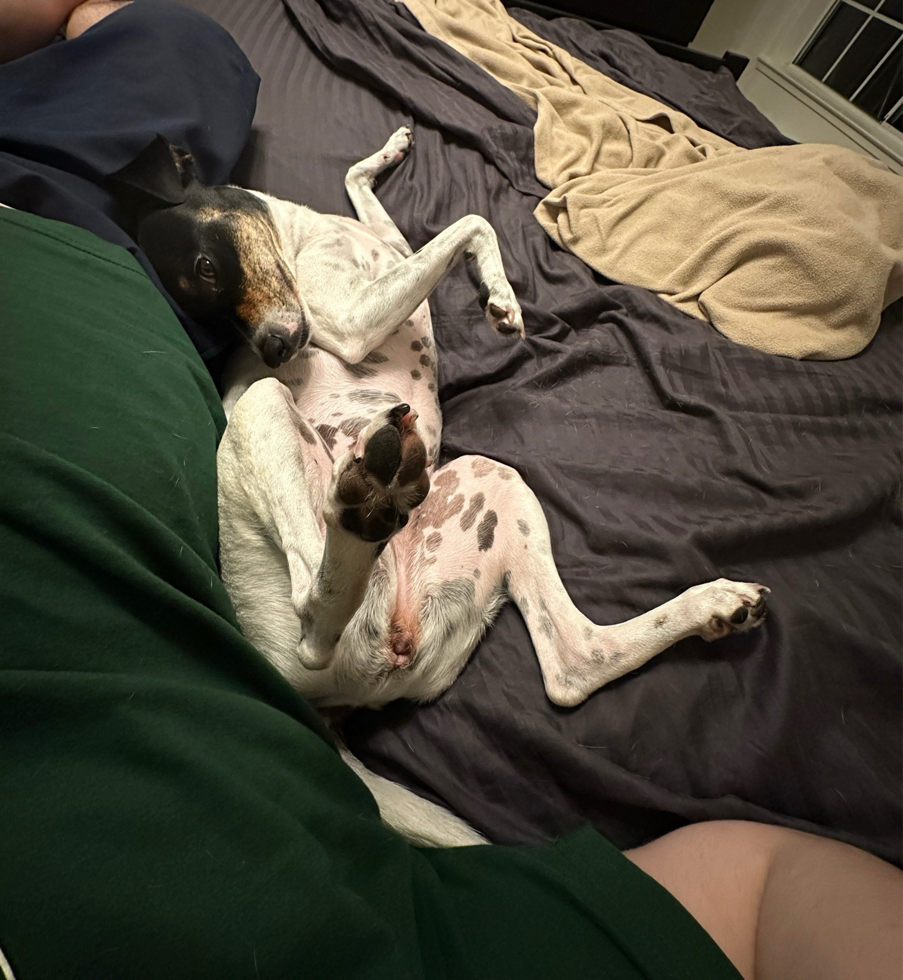
[[[121,245],[166,295],[116,223],[103,181],[162,133],[193,155],[203,182],[224,183],[251,131],[259,84],[209,17],[135,0],[79,37],[0,65],[0,202]],[[206,360],[235,342],[231,327],[202,328],[166,299]]]

